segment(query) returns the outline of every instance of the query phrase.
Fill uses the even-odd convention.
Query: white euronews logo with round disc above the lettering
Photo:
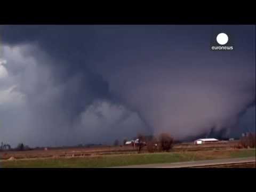
[[[226,33],[215,34],[211,42],[211,51],[232,51],[234,45],[232,44],[232,38]]]

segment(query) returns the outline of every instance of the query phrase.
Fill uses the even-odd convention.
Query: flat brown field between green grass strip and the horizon
[[[194,145],[193,143],[180,143],[174,145],[171,152],[180,151],[202,151],[202,150],[231,150],[234,149],[238,141],[220,142],[214,144]],[[95,147],[69,147],[69,148],[48,148],[48,150],[34,149],[28,151],[0,151],[0,159],[22,158],[58,158],[58,157],[85,157],[93,155],[110,154],[135,154],[136,149],[131,146],[95,146]],[[147,147],[142,149],[142,153],[147,153]]]

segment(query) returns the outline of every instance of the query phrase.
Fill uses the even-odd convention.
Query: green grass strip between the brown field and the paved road
[[[255,156],[255,149],[188,151],[153,154],[102,155],[78,158],[49,158],[20,161],[4,161],[0,167],[111,167],[153,163],[174,163],[219,158]]]

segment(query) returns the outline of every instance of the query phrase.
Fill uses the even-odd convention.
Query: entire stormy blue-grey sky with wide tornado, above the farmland
[[[232,51],[211,51],[218,33]],[[255,131],[255,26],[0,26],[0,141]]]

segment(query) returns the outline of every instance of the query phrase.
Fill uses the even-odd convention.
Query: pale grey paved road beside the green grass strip
[[[237,163],[256,163],[255,157],[246,158],[229,158],[229,159],[214,159],[206,161],[194,161],[194,162],[179,162],[179,163],[161,163],[161,164],[147,164],[147,165],[130,165],[119,166],[112,168],[186,168],[197,166],[211,166],[211,165],[225,165],[225,164],[237,164]]]

